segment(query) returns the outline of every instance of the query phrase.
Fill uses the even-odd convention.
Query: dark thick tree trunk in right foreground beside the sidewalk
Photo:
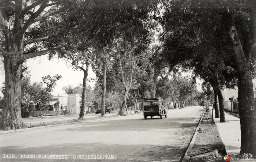
[[[240,153],[252,153],[256,156],[256,105],[253,94],[250,61],[245,57],[242,44],[233,28],[233,48],[238,65],[238,107],[241,126]]]

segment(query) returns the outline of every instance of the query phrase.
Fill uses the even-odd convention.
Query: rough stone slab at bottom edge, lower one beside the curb
[[[190,158],[192,162],[206,162],[214,159],[218,159],[219,153],[218,150],[212,150],[203,154],[195,155]]]

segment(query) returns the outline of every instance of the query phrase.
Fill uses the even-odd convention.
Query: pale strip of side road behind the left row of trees
[[[106,116],[113,116],[117,115],[116,113],[106,113]],[[100,116],[100,114],[89,114],[84,115],[84,118],[92,118]],[[39,117],[39,118],[27,118],[23,119],[23,123],[26,125],[29,124],[39,124],[39,123],[47,123],[47,122],[54,122],[54,121],[64,121],[64,120],[72,120],[72,119],[78,119],[78,115],[67,115],[67,116],[49,116],[49,117]]]

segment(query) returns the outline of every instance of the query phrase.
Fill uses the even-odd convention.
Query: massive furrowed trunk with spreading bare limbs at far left
[[[32,6],[33,4],[31,3]],[[27,28],[47,7],[46,4],[47,3],[42,3],[38,10],[31,14],[32,16],[30,16],[27,21],[24,22],[24,17],[26,17],[26,14],[24,14],[25,12],[23,13],[23,9],[25,9],[25,3],[24,1],[15,1],[15,5],[13,6],[15,17],[13,20],[14,24],[11,29],[8,29],[5,23],[5,21],[8,20],[5,20],[5,17],[3,17],[2,13],[0,13],[0,29],[1,33],[3,33],[5,37],[4,42],[6,43],[6,48],[3,48],[2,46],[0,47],[1,53],[4,55],[6,84],[6,91],[4,94],[4,108],[0,121],[1,130],[21,129],[25,127],[21,120],[21,65],[24,60],[47,54],[51,50],[43,50],[40,52],[27,53],[24,55],[24,35]],[[42,38],[42,40],[47,38],[48,36]]]

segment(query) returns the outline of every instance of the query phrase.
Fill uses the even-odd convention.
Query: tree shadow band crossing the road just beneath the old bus
[[[111,121],[98,121],[79,123],[76,128],[58,129],[56,131],[145,131],[152,129],[175,129],[175,128],[191,128],[197,125],[197,118],[164,118],[164,119],[122,119]],[[131,125],[134,125],[131,127]]]

